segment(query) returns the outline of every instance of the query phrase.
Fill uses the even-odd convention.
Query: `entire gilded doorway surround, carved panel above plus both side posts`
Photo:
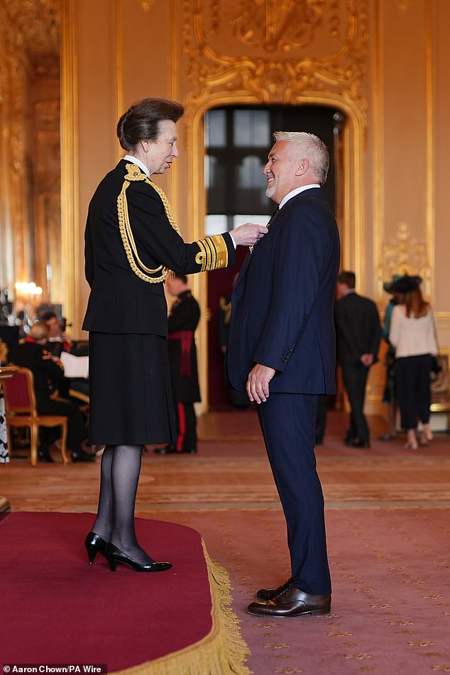
[[[188,161],[190,237],[204,234],[204,112],[224,104],[323,104],[346,115],[342,139],[343,266],[363,275],[363,153],[368,100],[367,0],[175,1],[172,26],[181,33],[175,73]],[[176,8],[176,11],[175,11]],[[206,280],[194,291],[206,297]],[[206,323],[199,335],[207,353]],[[207,398],[206,363],[202,391]]]

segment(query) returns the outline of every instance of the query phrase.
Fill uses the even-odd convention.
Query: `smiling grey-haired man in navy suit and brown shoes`
[[[265,194],[279,207],[234,287],[226,368],[231,386],[257,404],[292,576],[278,588],[261,588],[248,613],[327,614],[331,581],[314,427],[319,394],[335,392],[339,234],[320,187],[329,167],[324,143],[304,132],[274,138],[263,173]]]

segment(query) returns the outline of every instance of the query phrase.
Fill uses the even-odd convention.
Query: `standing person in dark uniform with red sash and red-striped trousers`
[[[176,297],[168,318],[168,349],[170,383],[175,404],[177,440],[162,448],[156,448],[160,455],[197,452],[197,417],[194,403],[201,399],[197,369],[197,348],[195,331],[200,320],[200,307],[195,300],[187,276],[175,274],[165,282],[169,295]]]

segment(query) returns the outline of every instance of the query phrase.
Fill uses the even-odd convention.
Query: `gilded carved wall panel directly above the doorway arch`
[[[188,114],[229,92],[263,103],[342,101],[365,121],[367,0],[184,0],[182,19]]]

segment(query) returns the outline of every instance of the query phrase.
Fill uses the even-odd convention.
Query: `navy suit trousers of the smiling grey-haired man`
[[[314,455],[317,400],[314,394],[271,393],[256,409],[285,514],[292,583],[322,595],[331,593],[331,580]]]

